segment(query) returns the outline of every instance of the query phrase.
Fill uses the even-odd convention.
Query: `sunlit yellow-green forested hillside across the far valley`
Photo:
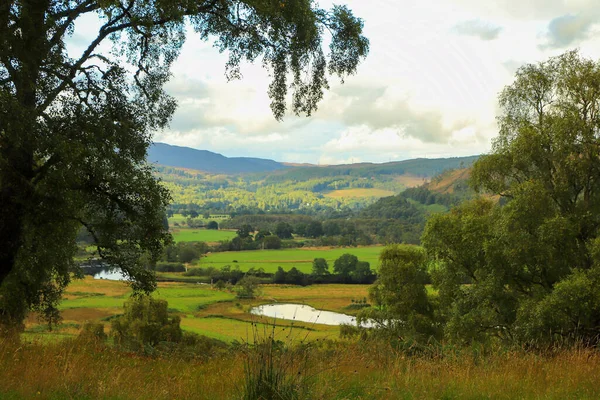
[[[294,212],[323,215],[360,210],[379,198],[426,183],[442,171],[468,166],[476,158],[289,167],[243,174],[208,173],[158,165],[156,175],[171,191],[175,212],[189,206],[196,211],[215,213]],[[233,159],[225,160],[233,163]],[[268,164],[268,160],[262,161]],[[233,163],[226,168],[237,168],[235,165]]]

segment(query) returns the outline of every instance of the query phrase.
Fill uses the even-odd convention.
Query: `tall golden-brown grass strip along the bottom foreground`
[[[148,358],[106,345],[0,340],[2,399],[235,399],[254,350]],[[316,342],[286,364],[311,399],[597,399],[600,355],[470,349],[407,356],[378,343]],[[250,357],[250,358],[249,358]],[[285,361],[288,362],[288,361]],[[279,365],[281,366],[281,365]],[[276,367],[278,367],[276,360]]]

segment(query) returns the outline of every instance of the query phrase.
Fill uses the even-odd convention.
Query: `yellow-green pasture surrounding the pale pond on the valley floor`
[[[211,289],[208,285],[161,282],[153,297],[168,301],[169,311],[182,318],[181,327],[184,330],[224,342],[253,340],[253,324],[259,334],[275,329],[276,336],[288,336],[289,328],[294,327],[297,333],[286,338],[292,341],[335,339],[339,331],[336,326],[278,320],[277,326],[273,327],[273,319],[248,312],[258,304],[291,302],[308,304],[317,309],[352,313],[346,307],[352,300],[366,297],[368,286],[327,285],[327,290],[323,288],[317,285],[264,285],[259,298],[239,300],[232,292]],[[56,341],[74,337],[86,321],[103,322],[121,314],[123,304],[130,295],[131,289],[121,281],[95,280],[89,276],[76,280],[69,286],[60,305],[62,323],[49,332],[35,316],[31,316],[26,323],[24,338]]]

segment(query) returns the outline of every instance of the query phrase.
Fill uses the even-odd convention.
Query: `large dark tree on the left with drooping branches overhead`
[[[81,54],[66,43],[85,15],[102,25]],[[310,115],[327,75],[355,72],[368,52],[362,21],[312,0],[3,0],[0,2],[0,320],[37,308],[52,318],[85,227],[136,290],[154,288],[169,201],[146,164],[152,132],[175,101],[163,91],[191,26],[229,54],[270,70],[277,119]],[[323,48],[330,35],[328,51]],[[113,51],[102,52],[105,44]],[[327,54],[326,54],[327,53]]]

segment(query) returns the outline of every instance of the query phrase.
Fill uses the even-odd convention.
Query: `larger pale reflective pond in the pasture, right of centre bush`
[[[251,314],[265,317],[289,319],[302,322],[312,322],[324,325],[355,325],[356,318],[351,315],[336,313],[332,311],[317,310],[305,304],[265,304],[254,307]],[[366,322],[362,326],[371,328],[374,324]]]

